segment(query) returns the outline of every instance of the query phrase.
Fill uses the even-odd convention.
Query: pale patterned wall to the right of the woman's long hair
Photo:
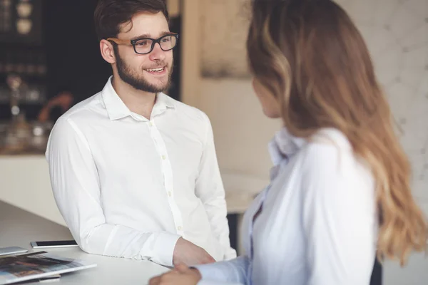
[[[428,0],[337,0],[360,28],[428,201]]]

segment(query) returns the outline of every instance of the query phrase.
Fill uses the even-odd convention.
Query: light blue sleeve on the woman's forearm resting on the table
[[[198,285],[211,284],[248,284],[248,257],[238,257],[228,261],[194,266],[202,279]]]

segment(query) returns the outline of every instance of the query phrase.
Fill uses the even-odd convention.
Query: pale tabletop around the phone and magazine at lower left
[[[58,239],[73,237],[66,227],[0,201],[0,247],[24,247],[34,252],[30,242]],[[78,247],[44,250],[98,265],[92,269],[63,274],[54,284],[148,284],[152,276],[168,271],[168,268],[151,261],[86,254]]]

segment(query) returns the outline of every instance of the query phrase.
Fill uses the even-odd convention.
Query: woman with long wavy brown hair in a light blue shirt
[[[424,250],[409,162],[345,11],[330,0],[255,0],[247,49],[264,113],[285,128],[270,145],[270,186],[245,213],[245,256],[179,265],[151,284],[361,285],[376,254],[404,264]]]

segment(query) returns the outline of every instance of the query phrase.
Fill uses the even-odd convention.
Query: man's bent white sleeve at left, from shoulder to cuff
[[[83,251],[173,265],[173,251],[180,237],[177,234],[140,232],[106,222],[91,148],[70,118],[57,120],[49,138],[46,159],[56,204]]]

